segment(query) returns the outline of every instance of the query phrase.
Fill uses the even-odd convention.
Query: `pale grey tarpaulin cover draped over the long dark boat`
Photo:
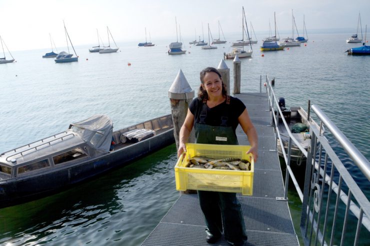
[[[94,115],[80,122],[72,123],[69,130],[77,133],[89,145],[101,152],[109,152],[112,140],[113,122],[106,115]]]

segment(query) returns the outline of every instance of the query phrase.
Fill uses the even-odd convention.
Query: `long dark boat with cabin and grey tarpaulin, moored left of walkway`
[[[105,115],[0,154],[0,208],[57,193],[174,143],[171,115],[113,131]]]

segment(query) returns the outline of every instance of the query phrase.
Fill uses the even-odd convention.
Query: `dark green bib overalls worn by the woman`
[[[224,103],[229,107],[229,96]],[[206,100],[203,100],[199,119],[194,126],[195,143],[237,145],[232,127],[227,126],[228,111],[226,110],[221,117],[220,126],[207,125],[205,124],[207,105]],[[207,231],[215,237],[221,236],[223,222],[224,237],[228,243],[242,245],[246,242],[244,220],[236,193],[209,191],[198,191],[197,193]]]

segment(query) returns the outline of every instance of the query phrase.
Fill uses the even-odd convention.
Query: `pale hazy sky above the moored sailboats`
[[[64,27],[74,46],[97,45],[96,29],[107,43],[106,26],[117,43],[168,39],[176,41],[176,25],[181,36],[193,40],[207,36],[209,23],[218,37],[218,21],[223,33],[241,32],[242,6],[247,23],[256,33],[268,34],[273,16],[280,32],[291,30],[293,10],[298,31],[357,28],[358,13],[370,35],[370,0],[0,0],[0,36],[10,51],[65,47]],[[178,30],[178,31],[179,31]],[[353,33],[348,33],[348,37]],[[226,38],[227,39],[227,38]],[[188,41],[190,41],[188,40]]]

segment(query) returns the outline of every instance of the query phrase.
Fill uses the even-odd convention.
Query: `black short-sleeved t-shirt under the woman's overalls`
[[[200,113],[202,110],[203,101],[199,98],[194,98],[189,105],[190,112],[194,115],[194,125],[200,121]],[[239,124],[238,117],[245,109],[245,105],[238,98],[230,96],[230,104],[226,104],[226,100],[213,108],[206,106],[205,124],[210,126],[220,126],[221,117],[227,117],[227,126],[231,126],[235,132]]]

